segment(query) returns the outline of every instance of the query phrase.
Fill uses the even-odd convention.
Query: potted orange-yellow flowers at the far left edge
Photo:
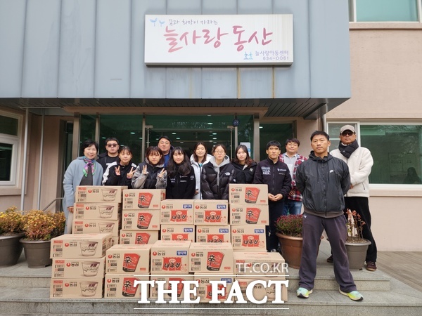
[[[16,206],[11,206],[0,213],[0,266],[6,267],[18,263],[22,254],[19,239],[24,236],[22,214]]]

